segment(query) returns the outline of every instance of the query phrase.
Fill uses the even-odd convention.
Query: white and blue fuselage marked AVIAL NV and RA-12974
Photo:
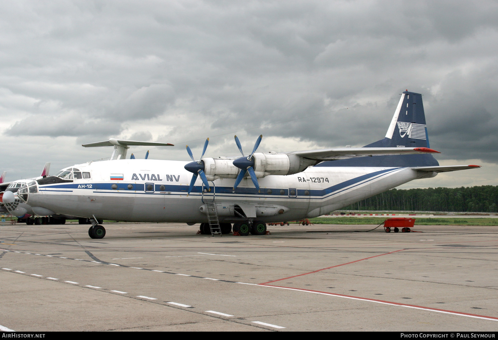
[[[238,204],[255,207],[253,217],[259,220],[281,222],[320,216],[428,176],[407,167],[309,167],[292,175],[260,178],[260,192],[250,178],[243,179],[235,192],[234,179],[219,178],[209,182],[211,191],[206,192],[198,178],[187,195],[192,174],[185,164],[114,160],[77,165],[90,172],[90,178],[39,185],[38,192],[29,193],[29,204],[79,217],[199,223],[207,219],[201,209],[204,203],[214,200],[220,222],[240,221],[233,211]]]

